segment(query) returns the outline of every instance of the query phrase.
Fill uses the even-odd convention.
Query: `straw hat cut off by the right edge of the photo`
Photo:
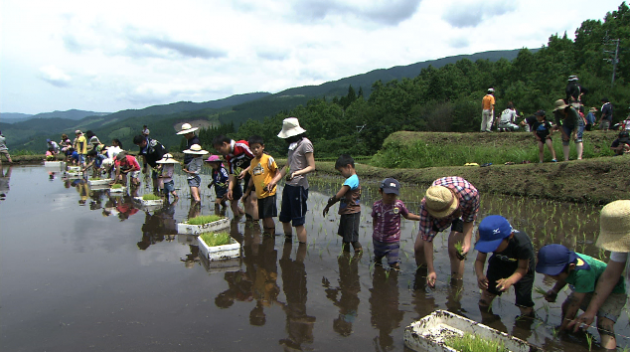
[[[630,200],[616,200],[602,208],[595,245],[607,251],[630,252]]]

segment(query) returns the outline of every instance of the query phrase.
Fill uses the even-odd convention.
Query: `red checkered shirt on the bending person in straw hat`
[[[461,219],[464,222],[473,222],[477,219],[479,212],[479,192],[475,186],[458,176],[442,177],[433,181],[432,186],[444,186],[453,190],[459,199],[459,210],[461,211]],[[420,204],[420,231],[418,235],[422,236],[425,241],[433,241],[435,235],[446,230],[453,220],[457,218],[454,215],[443,219],[437,219],[429,214],[425,207],[425,199]]]

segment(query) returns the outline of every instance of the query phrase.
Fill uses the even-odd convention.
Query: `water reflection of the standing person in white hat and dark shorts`
[[[306,314],[306,244],[298,244],[295,260],[291,259],[293,242],[284,242],[280,268],[282,269],[282,290],[287,299],[284,312],[287,315],[286,330],[288,337],[279,341],[286,349],[302,350],[303,343],[313,342],[315,317]]]

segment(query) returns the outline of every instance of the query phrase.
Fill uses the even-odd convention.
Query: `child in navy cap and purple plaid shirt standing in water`
[[[372,205],[372,242],[374,244],[374,262],[381,265],[383,257],[394,270],[400,269],[400,223],[401,216],[407,220],[420,220],[412,214],[405,203],[398,199],[400,183],[396,179],[386,178],[378,190],[381,199]]]

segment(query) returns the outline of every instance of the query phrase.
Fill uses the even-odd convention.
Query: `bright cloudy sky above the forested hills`
[[[277,93],[540,48],[621,0],[1,0],[0,113]]]

